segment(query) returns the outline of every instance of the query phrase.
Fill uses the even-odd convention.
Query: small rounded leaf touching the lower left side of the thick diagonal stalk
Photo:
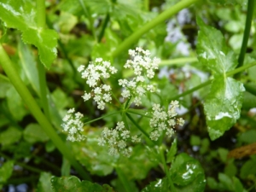
[[[23,134],[28,143],[45,142],[49,140],[49,137],[38,124],[27,125]]]

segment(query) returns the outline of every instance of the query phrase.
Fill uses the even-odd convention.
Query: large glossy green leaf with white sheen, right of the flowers
[[[214,79],[204,110],[207,129],[212,140],[221,137],[240,118],[243,84],[226,77],[227,72],[236,68],[236,55],[225,44],[221,32],[206,26],[198,18],[200,26],[197,54],[201,63],[206,63]]]

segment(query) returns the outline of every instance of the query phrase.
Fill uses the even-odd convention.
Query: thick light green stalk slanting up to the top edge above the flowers
[[[143,36],[144,33],[154,28],[154,26],[159,25],[160,23],[172,17],[172,15],[177,14],[177,12],[179,12],[180,10],[188,8],[191,4],[199,1],[200,0],[183,0],[176,3],[171,8],[166,9],[163,13],[154,18],[154,20],[149,21],[139,30],[133,32],[129,38],[126,38],[125,41],[123,41],[123,43],[120,44],[119,47],[113,51],[112,56],[115,57],[117,55],[120,55],[123,51],[129,49],[131,47],[131,44],[135,44],[137,40]]]

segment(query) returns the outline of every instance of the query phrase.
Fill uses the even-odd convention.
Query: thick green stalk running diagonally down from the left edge
[[[44,113],[42,113],[38,107],[38,103],[35,101],[29,90],[26,88],[26,85],[20,79],[20,76],[16,72],[12,61],[10,61],[9,56],[4,51],[2,44],[0,44],[0,64],[2,65],[4,72],[9,77],[10,82],[15,86],[15,89],[18,91],[20,97],[26,103],[27,108],[31,111],[34,118],[37,119],[38,124],[44,129],[45,133],[55,144],[56,148],[58,148],[61,154],[63,154],[65,158],[70,161],[76,171],[79,172],[84,179],[90,180],[89,174],[84,172],[84,168],[80,166],[79,163],[73,158],[71,151],[67,150],[67,146],[62,142],[61,137],[56,134],[55,129],[49,123],[49,120],[44,116]]]

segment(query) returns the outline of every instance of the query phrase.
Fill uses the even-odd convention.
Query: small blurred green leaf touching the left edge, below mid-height
[[[0,143],[3,145],[10,145],[20,140],[22,131],[10,126],[6,131],[0,133]]]

